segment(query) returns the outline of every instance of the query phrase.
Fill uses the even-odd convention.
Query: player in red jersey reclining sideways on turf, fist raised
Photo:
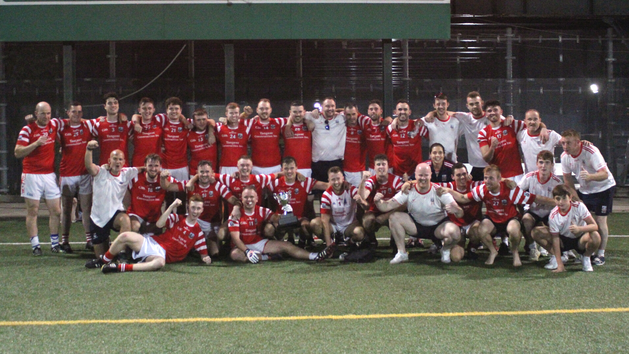
[[[184,260],[192,247],[201,254],[201,260],[206,265],[212,263],[205,236],[197,222],[199,215],[203,213],[203,199],[199,195],[189,198],[187,215],[170,214],[179,205],[181,200],[175,199],[157,220],[157,227],[167,228],[163,234],[144,237],[136,232],[123,232],[116,237],[103,256],[103,261],[106,262],[102,268],[103,273],[160,270],[166,263]],[[112,262],[126,247],[133,250],[133,259],[141,260],[140,263],[133,265]]]

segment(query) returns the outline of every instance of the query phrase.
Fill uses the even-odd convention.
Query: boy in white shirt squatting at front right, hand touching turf
[[[561,259],[563,251],[576,249],[581,254],[584,271],[593,271],[590,256],[601,244],[601,236],[594,218],[584,203],[572,202],[570,190],[565,185],[555,186],[552,190],[555,207],[548,217],[548,227],[535,227],[531,232],[533,239],[552,254],[550,262],[544,267],[554,272],[565,271]]]

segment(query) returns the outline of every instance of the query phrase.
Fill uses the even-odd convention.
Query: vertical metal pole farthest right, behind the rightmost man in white
[[[614,91],[616,89],[616,80],[614,79],[614,30],[613,28],[607,29],[607,58],[605,61],[607,62],[607,117],[606,117],[606,125],[604,128],[605,132],[605,159],[607,161],[607,166],[611,166],[611,173],[616,174],[616,156],[615,156],[615,147],[613,144],[614,140],[614,116],[615,116],[615,108],[616,102],[614,98]]]

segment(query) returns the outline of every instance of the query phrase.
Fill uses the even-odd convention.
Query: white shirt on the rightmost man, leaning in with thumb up
[[[581,146],[581,151],[577,156],[572,156],[564,151],[561,154],[561,168],[563,173],[574,173],[579,181],[579,191],[584,194],[598,193],[599,191],[608,190],[616,185],[613,174],[607,168],[603,155],[598,151],[596,146]],[[607,171],[607,179],[603,181],[584,181],[579,176],[581,169],[585,168],[588,173],[597,173],[605,169]]]

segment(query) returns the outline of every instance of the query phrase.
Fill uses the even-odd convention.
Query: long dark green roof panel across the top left
[[[0,42],[450,38],[450,0],[0,0]]]

